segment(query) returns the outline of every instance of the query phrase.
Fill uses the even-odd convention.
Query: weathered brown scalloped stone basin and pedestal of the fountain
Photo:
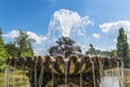
[[[35,84],[37,84],[37,87],[39,87],[39,78],[41,74],[41,85],[42,87],[46,87],[46,85],[52,80],[52,73],[54,87],[65,84],[66,73],[68,85],[75,84],[77,87],[80,86],[80,75],[82,75],[82,87],[99,87],[101,82],[100,79],[103,77],[104,71],[108,69],[115,69],[122,62],[122,59],[106,59],[100,57],[90,58],[88,55],[82,55],[82,58],[79,58],[76,54],[70,55],[68,61],[65,60],[66,59],[63,55],[57,55],[55,58],[46,55],[9,59],[10,65],[23,71],[28,71],[27,75],[30,79],[31,87],[35,87]],[[103,67],[102,71],[100,71],[101,67]],[[41,73],[41,71],[43,72]]]

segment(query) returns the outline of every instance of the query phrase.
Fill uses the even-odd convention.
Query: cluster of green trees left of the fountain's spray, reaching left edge
[[[32,42],[35,42],[34,39],[30,39],[25,32],[20,30],[20,35],[14,42],[4,45],[0,29],[0,70],[5,67],[5,60],[9,55],[34,57]]]

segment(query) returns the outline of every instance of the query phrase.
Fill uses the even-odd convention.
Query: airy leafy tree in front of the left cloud
[[[35,42],[35,39],[30,39],[25,32],[20,29],[20,35],[15,38],[15,45],[18,48],[18,57],[32,57],[32,42]]]

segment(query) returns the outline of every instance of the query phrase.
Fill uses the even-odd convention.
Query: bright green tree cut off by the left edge
[[[8,58],[8,52],[4,48],[4,42],[2,39],[2,29],[0,28],[0,70],[5,67],[5,60]]]

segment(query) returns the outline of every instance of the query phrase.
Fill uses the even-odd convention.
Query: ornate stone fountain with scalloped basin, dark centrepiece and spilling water
[[[81,54],[80,47],[68,37],[61,37],[56,44],[49,49],[49,55],[9,58],[8,67],[28,71],[30,87],[123,87],[121,58]],[[5,82],[6,74],[8,70]]]

